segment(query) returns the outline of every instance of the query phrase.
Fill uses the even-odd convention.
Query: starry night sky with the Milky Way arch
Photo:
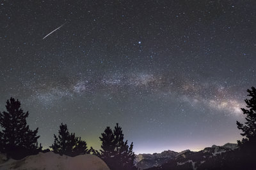
[[[255,7],[0,0],[0,111],[19,99],[44,148],[61,122],[97,149],[117,122],[135,153],[236,143],[256,83]]]

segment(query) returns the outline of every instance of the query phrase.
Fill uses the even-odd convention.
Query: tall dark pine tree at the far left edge
[[[40,137],[37,136],[38,128],[31,131],[27,125],[28,115],[28,111],[23,112],[20,108],[20,101],[15,101],[12,97],[6,102],[6,111],[0,112],[0,125],[3,128],[1,152],[6,153],[8,157],[21,159],[42,150],[37,141]]]

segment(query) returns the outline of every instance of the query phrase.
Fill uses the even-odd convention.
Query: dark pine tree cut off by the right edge
[[[238,145],[241,148],[248,148],[248,150],[251,150],[253,152],[256,151],[256,89],[252,87],[252,90],[247,90],[249,93],[248,96],[251,97],[251,99],[245,99],[246,108],[241,108],[243,111],[243,114],[246,115],[246,122],[244,124],[241,124],[237,121],[237,128],[242,130],[243,133],[241,133],[242,136],[245,138],[242,139],[242,141],[237,141]]]

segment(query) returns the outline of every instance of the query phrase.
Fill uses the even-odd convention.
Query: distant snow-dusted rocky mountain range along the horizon
[[[223,146],[212,145],[199,152],[184,150],[177,153],[168,150],[162,153],[139,154],[136,155],[136,166],[140,169],[148,169],[150,167],[156,167],[156,169],[159,167],[159,169],[161,169],[162,165],[169,164],[171,169],[177,169],[177,166],[188,166],[191,169],[196,169],[196,167],[203,164],[205,160],[215,157],[218,154],[235,150],[236,148],[237,144],[227,143]]]

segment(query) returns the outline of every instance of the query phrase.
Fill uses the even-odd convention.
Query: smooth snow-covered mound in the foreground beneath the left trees
[[[106,163],[95,155],[79,155],[68,157],[53,152],[38,153],[20,160],[7,160],[5,155],[0,155],[0,170],[110,170]]]

